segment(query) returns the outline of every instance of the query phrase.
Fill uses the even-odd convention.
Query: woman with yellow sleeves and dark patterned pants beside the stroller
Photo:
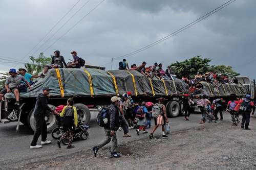
[[[75,124],[75,127],[77,127],[77,111],[76,111],[76,107],[74,107],[73,104],[74,104],[73,99],[68,99],[67,106],[65,106],[60,113],[60,117],[63,117],[62,123],[63,123],[63,130],[65,131],[65,133],[57,141],[59,148],[61,148],[60,142],[66,138],[69,138],[69,144],[67,148],[68,149],[75,148],[74,145],[71,145],[71,140],[73,137],[72,127],[74,124]]]

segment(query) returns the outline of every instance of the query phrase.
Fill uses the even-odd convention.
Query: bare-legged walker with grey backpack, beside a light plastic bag
[[[166,115],[166,110],[165,106],[163,104],[164,98],[159,98],[158,103],[155,104],[152,108],[152,117],[154,117],[155,120],[155,126],[153,127],[151,134],[150,134],[150,139],[153,139],[153,133],[156,131],[156,129],[162,125],[162,138],[168,137],[165,132],[164,132],[164,126],[166,123],[169,123],[167,115]]]

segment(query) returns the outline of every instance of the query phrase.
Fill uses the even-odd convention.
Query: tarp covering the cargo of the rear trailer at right
[[[230,94],[234,93],[237,96],[245,96],[245,91],[243,85],[241,84],[234,84],[234,83],[227,83],[227,84],[211,84],[207,82],[200,82],[203,85],[202,94],[207,94],[209,97],[214,96],[229,96]]]

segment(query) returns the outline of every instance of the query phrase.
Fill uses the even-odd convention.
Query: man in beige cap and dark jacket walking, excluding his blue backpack
[[[106,138],[101,141],[98,145],[93,147],[94,156],[97,156],[97,152],[100,148],[104,145],[108,144],[111,141],[111,156],[118,158],[120,154],[116,152],[117,148],[117,138],[116,138],[116,131],[119,127],[119,105],[120,98],[114,96],[111,98],[111,105],[109,106],[109,127],[104,128]]]

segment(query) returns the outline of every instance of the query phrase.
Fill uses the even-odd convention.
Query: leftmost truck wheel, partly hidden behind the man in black
[[[48,104],[48,106],[50,108],[56,108],[55,106],[53,105],[50,105]],[[35,118],[34,118],[34,114],[33,114],[33,111],[34,109],[32,109],[29,113],[29,116],[28,116],[28,125],[29,127],[35,131]],[[51,112],[49,111],[46,111],[46,116],[45,116],[45,120],[46,120],[46,124],[47,124],[47,132],[48,133],[51,133],[52,130],[57,126],[56,125],[56,116],[54,114],[52,114]]]

